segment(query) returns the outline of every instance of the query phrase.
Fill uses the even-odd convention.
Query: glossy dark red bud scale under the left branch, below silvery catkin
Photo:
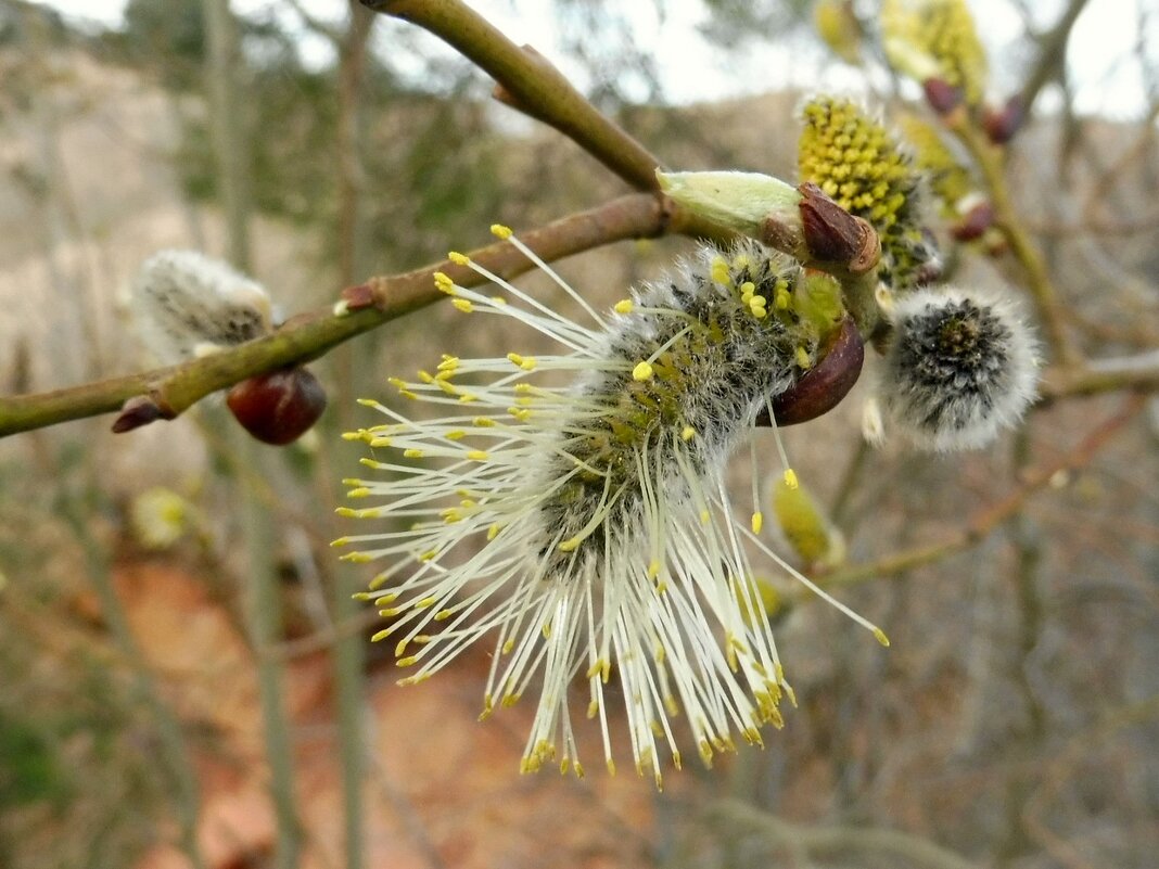
[[[306,368],[270,371],[234,386],[226,404],[242,428],[263,444],[291,444],[326,410],[326,390]]]

